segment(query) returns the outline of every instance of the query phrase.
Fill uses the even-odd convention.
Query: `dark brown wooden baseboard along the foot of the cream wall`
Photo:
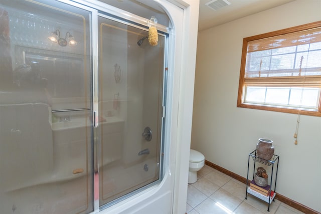
[[[227,175],[233,177],[234,179],[236,179],[238,181],[241,181],[242,183],[246,184],[246,178],[245,177],[242,177],[242,176],[240,176],[238,174],[235,174],[234,172],[231,172],[231,171],[229,171],[229,170],[227,170],[227,169],[225,169],[225,168],[223,168],[223,167],[221,167],[219,165],[216,165],[216,164],[214,164],[214,163],[212,163],[212,162],[210,162],[208,160],[205,160],[205,164],[210,166],[210,167],[212,167],[212,168],[214,168],[214,169],[216,169],[216,170],[218,170],[218,171],[220,171],[220,172],[223,172],[224,174],[227,174]],[[249,180],[249,182],[251,182],[251,181]],[[301,212],[306,213],[306,214],[320,214],[320,212],[317,212],[317,211],[315,211],[315,210],[313,210],[313,209],[311,209],[311,208],[309,208],[309,207],[307,207],[307,206],[305,206],[305,205],[303,205],[301,203],[298,203],[298,202],[296,202],[296,201],[294,201],[294,200],[292,200],[292,199],[290,199],[288,197],[285,197],[285,196],[283,196],[283,195],[281,195],[279,193],[277,193],[275,195],[275,198],[278,199],[279,201],[289,205],[289,206],[292,206],[293,208],[295,208],[297,210],[300,210]]]

